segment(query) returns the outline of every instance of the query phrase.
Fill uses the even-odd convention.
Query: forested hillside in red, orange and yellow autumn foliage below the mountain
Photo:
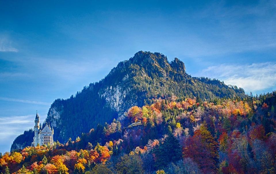
[[[276,91],[244,100],[155,99],[65,144],[0,157],[17,174],[275,173]]]

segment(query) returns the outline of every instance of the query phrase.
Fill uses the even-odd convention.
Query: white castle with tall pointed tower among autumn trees
[[[34,141],[32,142],[31,146],[37,146],[37,144],[53,145],[54,144],[53,135],[54,135],[54,129],[51,128],[50,124],[46,123],[44,128],[40,129],[39,115],[37,114],[34,120]]]

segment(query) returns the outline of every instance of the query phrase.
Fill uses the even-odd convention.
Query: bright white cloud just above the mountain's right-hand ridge
[[[221,64],[208,67],[198,74],[218,78],[226,84],[237,85],[246,92],[276,89],[276,63],[255,63],[250,65]]]

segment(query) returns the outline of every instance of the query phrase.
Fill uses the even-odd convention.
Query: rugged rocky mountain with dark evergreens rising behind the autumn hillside
[[[137,52],[124,60],[101,81],[90,83],[68,99],[56,99],[46,122],[55,130],[54,139],[65,142],[82,132],[89,132],[97,124],[123,120],[131,106],[151,104],[153,98],[176,96],[216,98],[244,98],[244,90],[227,86],[216,79],[191,77],[184,63],[175,58],[168,62],[165,55]]]

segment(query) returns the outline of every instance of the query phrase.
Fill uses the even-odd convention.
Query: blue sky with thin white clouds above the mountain
[[[0,1],[0,151],[139,50],[246,93],[276,90],[275,1]]]

